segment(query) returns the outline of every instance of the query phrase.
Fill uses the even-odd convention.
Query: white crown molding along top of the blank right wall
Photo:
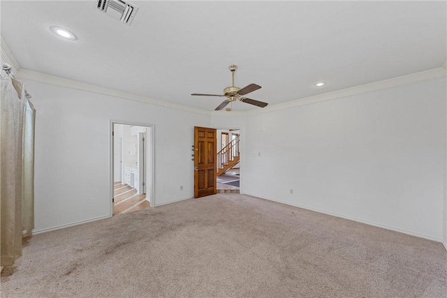
[[[446,64],[444,64],[445,66]],[[267,112],[273,112],[278,110],[286,110],[292,107],[299,107],[301,105],[311,105],[313,103],[321,103],[326,100],[333,100],[337,98],[344,98],[347,96],[354,96],[358,94],[365,94],[372,91],[378,91],[381,89],[387,89],[405,84],[413,84],[416,82],[423,82],[426,80],[437,79],[439,77],[446,77],[446,71],[443,68],[434,68],[431,70],[421,71],[420,73],[412,73],[411,75],[403,75],[402,77],[393,77],[392,79],[383,80],[379,82],[373,82],[369,84],[363,84],[356,87],[341,89],[337,91],[328,92],[325,94],[319,94],[316,96],[309,96],[306,98],[300,98],[297,100],[288,101],[286,103],[279,103],[277,105],[269,105],[263,109],[249,110],[246,114],[263,114]]]

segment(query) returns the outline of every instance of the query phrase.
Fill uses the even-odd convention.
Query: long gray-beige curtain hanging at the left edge
[[[0,265],[8,266],[34,228],[34,107],[23,83],[3,76],[0,107]]]

